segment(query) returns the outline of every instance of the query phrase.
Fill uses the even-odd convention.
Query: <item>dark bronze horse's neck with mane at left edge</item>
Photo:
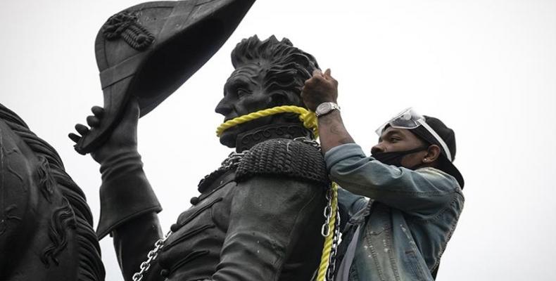
[[[92,224],[56,150],[0,104],[0,280],[104,280]]]

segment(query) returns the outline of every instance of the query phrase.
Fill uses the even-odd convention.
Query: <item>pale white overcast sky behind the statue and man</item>
[[[138,3],[0,4],[0,103],[58,150],[95,225],[99,166],[67,134],[102,105],[96,33]],[[409,106],[455,130],[466,201],[437,280],[556,280],[555,15],[554,0],[257,1],[220,51],[139,121],[164,231],[229,153],[214,133],[229,53],[243,38],[275,34],[331,67],[343,119],[365,151],[374,129]],[[111,239],[101,245],[106,280],[122,280]]]

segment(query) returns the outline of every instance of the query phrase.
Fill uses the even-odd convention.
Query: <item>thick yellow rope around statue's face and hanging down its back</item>
[[[317,123],[317,116],[315,112],[310,112],[303,107],[298,107],[295,105],[283,105],[268,108],[265,110],[260,110],[258,112],[252,112],[248,115],[243,115],[240,117],[236,117],[232,120],[228,120],[227,122],[222,123],[216,129],[216,136],[220,137],[222,132],[232,128],[233,126],[237,126],[239,124],[243,124],[245,122],[252,121],[254,119],[258,119],[261,117],[267,117],[270,115],[275,115],[278,113],[297,113],[299,115],[299,120],[303,122],[303,126],[305,128],[310,129],[313,133],[313,136],[317,138],[319,136],[318,131],[318,123]],[[329,257],[332,249],[332,243],[334,242],[334,224],[336,223],[336,210],[338,209],[338,185],[336,183],[332,183],[332,197],[331,197],[331,218],[328,224],[329,227],[329,234],[327,237],[324,238],[324,247],[322,248],[322,257],[320,260],[319,271],[317,274],[317,281],[324,281],[326,278],[327,269],[329,266]]]

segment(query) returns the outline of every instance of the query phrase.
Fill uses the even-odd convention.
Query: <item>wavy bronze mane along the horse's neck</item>
[[[77,238],[77,259],[79,268],[77,280],[101,281],[105,271],[101,261],[99,241],[93,229],[93,217],[81,188],[65,172],[58,152],[46,141],[36,136],[23,119],[15,112],[0,104],[0,119],[25,141],[40,161],[39,188],[46,198],[58,190],[63,195],[63,206],[53,211],[50,222],[49,238],[51,243],[41,253],[45,266],[58,263],[56,256],[65,249],[68,241],[68,228],[75,229]]]

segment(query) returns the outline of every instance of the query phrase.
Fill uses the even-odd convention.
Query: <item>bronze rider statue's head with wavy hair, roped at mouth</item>
[[[301,89],[318,68],[312,55],[294,47],[288,39],[278,41],[272,36],[260,41],[256,35],[236,45],[232,65],[235,70],[224,86],[224,98],[216,106],[225,121],[280,105],[305,107]],[[233,148],[239,133],[279,122],[299,120],[292,114],[255,119],[224,131],[220,143]]]

